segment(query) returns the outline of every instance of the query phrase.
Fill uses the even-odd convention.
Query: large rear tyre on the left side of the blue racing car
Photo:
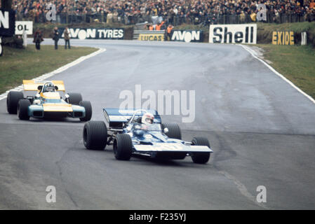
[[[103,121],[91,120],[84,125],[83,144],[87,149],[105,149],[107,144],[107,127]]]

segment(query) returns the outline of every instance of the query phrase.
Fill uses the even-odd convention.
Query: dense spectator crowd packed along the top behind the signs
[[[257,5],[267,8],[266,22],[315,21],[314,0],[13,0],[18,20],[46,22],[55,5],[56,22],[152,22],[162,17],[166,24],[195,25],[255,22]]]

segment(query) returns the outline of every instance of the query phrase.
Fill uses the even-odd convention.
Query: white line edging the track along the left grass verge
[[[95,55],[99,55],[100,53],[105,52],[105,50],[106,50],[105,48],[99,48],[99,50],[91,53],[90,55],[79,57],[78,59],[74,60],[73,62],[70,62],[69,64],[66,64],[64,66],[61,66],[59,69],[56,69],[55,71],[51,71],[50,73],[46,73],[46,74],[43,74],[37,78],[33,78],[33,80],[38,80],[38,81],[46,80],[47,78],[50,78],[51,76],[54,76],[54,75],[56,75],[62,71],[65,71],[65,70],[69,69],[70,67],[72,67],[76,64],[79,64],[80,62],[83,62],[84,60],[86,60],[90,57],[94,57]],[[24,89],[23,85],[19,85],[18,87],[13,88],[12,90],[13,91],[22,91],[23,89]],[[8,90],[8,91],[4,92],[3,94],[0,94],[0,100],[6,99],[8,92],[10,92],[12,90]]]

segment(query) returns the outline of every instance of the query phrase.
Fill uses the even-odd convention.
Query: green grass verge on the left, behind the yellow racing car
[[[0,57],[0,94],[21,85],[23,79],[36,78],[96,50],[82,47],[65,50],[63,45],[58,50],[53,45],[41,45],[41,50],[36,50],[35,45],[26,49],[4,46],[4,55]]]

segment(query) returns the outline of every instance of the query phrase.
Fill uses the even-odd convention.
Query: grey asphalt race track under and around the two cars
[[[315,104],[241,46],[72,45],[107,49],[51,78],[91,101],[92,120],[136,84],[195,90],[193,123],[162,120],[178,123],[187,141],[208,137],[214,153],[206,165],[118,161],[112,147],[84,148],[79,120],[21,121],[1,100],[0,209],[315,209]],[[46,202],[47,186],[55,186],[56,203]],[[266,203],[256,202],[257,186],[267,188]]]

